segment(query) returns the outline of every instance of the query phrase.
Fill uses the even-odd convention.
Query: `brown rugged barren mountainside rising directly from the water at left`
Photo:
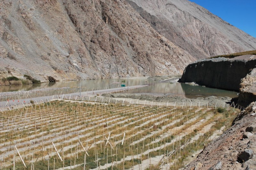
[[[170,75],[195,60],[126,1],[4,0],[0,7],[1,77]]]

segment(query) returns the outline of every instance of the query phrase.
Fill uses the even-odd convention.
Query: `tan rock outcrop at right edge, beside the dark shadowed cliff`
[[[256,68],[241,80],[238,103],[244,107],[256,101]]]

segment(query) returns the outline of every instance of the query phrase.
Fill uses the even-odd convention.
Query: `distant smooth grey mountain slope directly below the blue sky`
[[[127,0],[150,25],[196,58],[256,49],[256,38],[188,0]]]

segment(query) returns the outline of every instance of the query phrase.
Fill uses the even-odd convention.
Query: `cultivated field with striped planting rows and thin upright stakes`
[[[178,169],[239,112],[65,100],[32,106],[1,112],[1,169]]]

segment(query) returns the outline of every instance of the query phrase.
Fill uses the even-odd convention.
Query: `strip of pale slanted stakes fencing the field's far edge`
[[[121,89],[120,91],[124,91],[125,89]],[[113,92],[112,90],[109,90],[108,93]],[[115,91],[116,92],[116,91]],[[104,92],[106,93],[106,92]],[[70,95],[53,95],[53,96],[44,96],[44,97],[38,97],[36,99],[30,100],[9,100],[5,104],[0,105],[0,111],[9,109],[15,109],[21,107],[33,107],[34,104],[39,105],[40,103],[47,103],[51,102],[53,100],[68,100],[71,102],[90,102],[90,103],[101,103],[101,104],[122,104],[122,105],[143,105],[143,106],[161,106],[161,107],[182,107],[182,108],[193,108],[193,107],[206,107],[206,108],[228,108],[228,107],[235,107],[238,109],[243,110],[244,107],[235,105],[233,102],[231,105],[225,103],[225,102],[169,102],[169,101],[149,101],[149,100],[138,100],[138,99],[127,99],[127,98],[111,98],[111,97],[102,97],[99,96],[100,93],[95,93],[95,95],[88,96],[87,94],[78,95],[78,94],[70,94]]]

